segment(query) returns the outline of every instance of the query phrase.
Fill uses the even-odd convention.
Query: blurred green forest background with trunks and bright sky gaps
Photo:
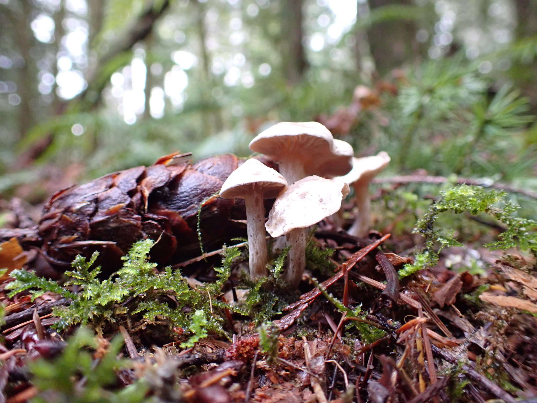
[[[0,193],[39,203],[173,150],[248,155],[263,128],[326,119],[351,105],[359,84],[378,92],[379,106],[333,129],[357,155],[387,150],[392,174],[425,169],[535,190],[536,8],[2,0]]]

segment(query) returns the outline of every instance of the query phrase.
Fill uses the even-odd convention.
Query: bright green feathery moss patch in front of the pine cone
[[[155,271],[156,263],[148,260],[153,243],[152,240],[136,242],[129,253],[122,257],[123,267],[105,280],[97,278],[99,267],[92,269],[97,253],[89,262],[77,256],[72,263],[74,270],[66,272],[71,279],[63,287],[32,272],[14,270],[12,276],[16,280],[9,285],[12,290],[10,296],[31,289],[33,298],[47,291],[70,298],[72,303],[69,306],[54,308],[53,314],[60,318],[54,326],[59,330],[81,323],[100,332],[106,323],[125,320],[127,315],[140,314],[143,322],[159,321],[170,328],[191,329],[195,336],[206,334],[203,332],[225,335],[222,310],[227,308],[244,313],[216,300],[222,285],[229,278],[234,258],[240,255],[238,249],[224,248],[222,266],[215,268],[217,281],[195,290],[179,270],[166,267],[162,272]],[[79,291],[71,292],[69,285],[77,285]],[[169,296],[175,299],[173,304],[166,302]],[[125,306],[127,298],[132,298],[132,301]],[[205,315],[205,320],[202,320],[199,312]]]

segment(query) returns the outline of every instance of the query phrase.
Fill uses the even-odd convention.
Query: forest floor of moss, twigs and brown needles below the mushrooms
[[[401,217],[363,239],[327,219],[299,289],[286,290],[285,252],[249,283],[241,241],[167,263],[180,272],[149,262],[151,242],[120,271],[58,267],[24,209],[11,210],[0,401],[537,401],[536,262],[483,247],[502,222],[481,218],[473,239],[416,271],[426,244],[396,229]]]

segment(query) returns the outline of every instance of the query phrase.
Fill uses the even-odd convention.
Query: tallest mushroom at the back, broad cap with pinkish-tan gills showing
[[[308,175],[339,176],[352,168],[352,153],[333,145],[330,131],[317,122],[280,122],[259,133],[250,149],[278,163],[288,184]],[[336,142],[337,143],[337,142]],[[328,163],[330,161],[330,163]]]

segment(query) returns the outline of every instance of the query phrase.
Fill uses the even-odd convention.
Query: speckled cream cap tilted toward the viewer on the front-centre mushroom
[[[306,228],[335,213],[349,194],[343,182],[308,176],[280,193],[265,228],[273,238],[296,228]]]

